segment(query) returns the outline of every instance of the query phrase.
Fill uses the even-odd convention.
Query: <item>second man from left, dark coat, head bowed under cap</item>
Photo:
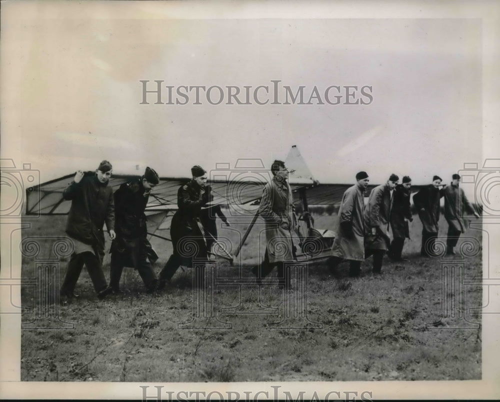
[[[156,276],[148,261],[152,250],[147,240],[146,208],[151,189],[159,183],[157,173],[146,167],[140,179],[123,183],[114,192],[114,211],[116,215],[116,238],[111,244],[111,268],[109,286],[114,293],[119,292],[121,272],[124,266],[134,267],[146,289],[156,288]]]

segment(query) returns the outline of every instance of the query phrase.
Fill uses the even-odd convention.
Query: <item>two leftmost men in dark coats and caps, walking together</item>
[[[65,301],[76,297],[74,287],[83,265],[98,298],[119,291],[124,266],[137,269],[148,291],[157,286],[151,263],[158,256],[146,237],[144,209],[158,175],[147,167],[141,178],[123,183],[113,194],[108,186],[111,174],[111,164],[102,161],[95,172],[77,171],[62,193],[65,200],[71,200],[66,233],[74,245],[59,292]],[[104,223],[112,240],[109,285],[102,271]]]

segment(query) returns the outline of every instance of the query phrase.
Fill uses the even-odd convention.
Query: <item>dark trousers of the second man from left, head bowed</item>
[[[147,260],[145,250],[142,253],[140,253],[140,250],[131,250],[129,255],[126,251],[123,253],[112,252],[109,286],[111,286],[114,291],[119,290],[121,272],[123,271],[123,267],[127,265],[127,257],[130,257],[131,261],[129,264],[131,263],[130,265],[137,270],[146,288],[148,290],[153,290],[156,286],[156,275],[154,275],[151,264]]]

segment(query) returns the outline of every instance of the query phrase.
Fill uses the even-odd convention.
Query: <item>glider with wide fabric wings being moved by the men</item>
[[[257,159],[238,159],[231,169],[229,169],[228,164],[218,165],[223,166],[216,166],[215,170],[209,172],[208,182],[214,195],[210,205],[237,208],[241,216],[245,218],[245,222],[248,222],[252,209],[248,206],[258,204],[263,186],[270,179],[269,170],[265,169],[262,161]],[[297,261],[310,261],[327,257],[335,232],[330,229],[314,227],[314,220],[308,211],[309,205],[338,206],[344,191],[352,184],[320,184],[314,179],[295,145],[291,147],[285,159],[285,165],[290,171],[288,183],[293,194],[293,204],[299,211],[295,233],[302,253],[296,255]],[[71,202],[62,198],[62,192],[69,185],[73,176],[74,174],[69,174],[27,189],[26,214],[66,215],[69,212]],[[137,176],[113,174],[108,185],[116,190],[122,183]],[[177,210],[177,190],[190,179],[190,177],[160,177],[159,184],[151,192],[145,209],[150,236],[170,240],[155,232],[158,229],[169,228],[173,213]],[[370,185],[366,193],[369,193],[373,187],[375,185]],[[417,190],[417,188],[413,190]],[[232,264],[257,218],[258,215],[255,213],[240,244],[232,255],[225,251],[224,247],[220,247],[224,255],[213,252],[212,254],[229,260]]]

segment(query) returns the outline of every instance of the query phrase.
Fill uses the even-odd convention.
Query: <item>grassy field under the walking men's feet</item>
[[[315,216],[316,227],[334,228],[336,216]],[[63,235],[65,217],[35,220],[23,237]],[[237,239],[245,224],[231,222],[220,237]],[[256,226],[241,251],[242,266],[217,260],[217,275],[251,278],[249,266],[259,255]],[[447,225],[440,222],[440,233]],[[236,231],[235,231],[236,230]],[[23,315],[21,380],[23,381],[353,381],[446,380],[481,378],[481,330],[464,322],[480,322],[481,287],[463,292],[444,288],[447,302],[463,298],[456,315],[441,318],[441,258],[419,256],[421,225],[411,225],[405,263],[384,258],[383,274],[372,276],[371,258],[359,278],[347,277],[341,264],[334,277],[324,262],[308,267],[307,317],[301,327],[279,329],[273,322],[284,314],[287,299],[274,285],[258,288],[229,284],[216,288],[219,321],[231,328],[179,329],[193,315],[192,270],[179,269],[173,286],[160,294],[144,293],[138,274],[124,270],[123,295],[98,301],[88,274],[82,272],[80,297],[59,307],[62,321],[74,328],[43,329],[51,318],[39,317],[38,329],[27,329],[33,312]],[[158,232],[159,233],[159,232]],[[167,232],[163,233],[167,234]],[[467,236],[481,241],[478,230]],[[460,240],[462,242],[463,240]],[[41,240],[40,255],[52,242]],[[459,242],[459,244],[460,244]],[[158,272],[171,245],[152,240],[160,255]],[[22,275],[34,276],[33,257],[23,257]],[[66,262],[61,261],[61,275]],[[481,253],[464,259],[465,278],[480,278]],[[104,260],[109,278],[109,255]],[[275,272],[273,272],[275,275]],[[296,284],[295,284],[296,285]],[[291,291],[291,294],[297,289]],[[21,290],[23,307],[35,304],[33,287]],[[288,294],[289,297],[290,294]],[[474,310],[475,309],[475,310]],[[273,314],[262,314],[262,311]],[[52,319],[53,321],[53,319]],[[296,322],[296,321],[295,321]],[[292,323],[293,324],[293,323]],[[62,324],[60,324],[62,325]],[[468,327],[467,327],[468,326]]]

